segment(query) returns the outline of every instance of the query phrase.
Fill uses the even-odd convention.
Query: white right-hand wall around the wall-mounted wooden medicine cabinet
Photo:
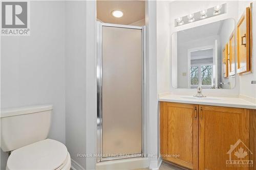
[[[252,73],[243,74],[240,78],[240,94],[256,98],[256,85],[251,84],[251,80],[256,80],[256,3],[255,1],[239,1],[238,13],[239,16],[243,14],[246,7],[250,6],[250,2],[253,2],[252,7]],[[256,102],[256,101],[255,101]]]

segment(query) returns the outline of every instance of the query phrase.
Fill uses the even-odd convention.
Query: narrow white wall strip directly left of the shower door
[[[96,1],[86,1],[86,151],[96,153]],[[86,159],[86,169],[95,169],[96,157]]]

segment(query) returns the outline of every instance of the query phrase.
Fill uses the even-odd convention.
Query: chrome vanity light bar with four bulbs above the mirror
[[[212,16],[217,16],[226,13],[226,4],[217,5],[212,8],[198,11],[193,14],[178,17],[175,19],[175,27],[185,25],[187,23],[195,22],[198,20],[206,19]]]

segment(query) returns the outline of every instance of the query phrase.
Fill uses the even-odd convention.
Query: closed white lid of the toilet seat
[[[45,139],[13,151],[7,169],[58,169],[68,156],[64,144]]]

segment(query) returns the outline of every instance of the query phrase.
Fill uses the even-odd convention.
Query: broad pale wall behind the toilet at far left
[[[31,35],[1,37],[1,106],[53,104],[49,138],[65,143],[65,3],[30,5]]]

